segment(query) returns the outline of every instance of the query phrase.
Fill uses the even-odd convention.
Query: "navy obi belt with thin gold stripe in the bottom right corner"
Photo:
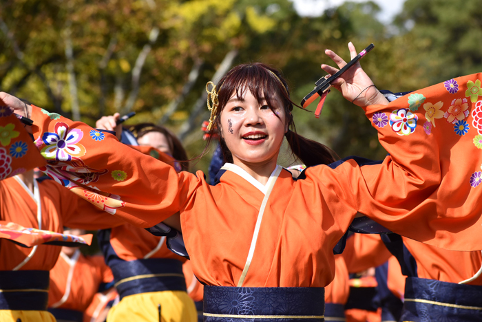
[[[401,321],[482,321],[482,286],[407,277]]]

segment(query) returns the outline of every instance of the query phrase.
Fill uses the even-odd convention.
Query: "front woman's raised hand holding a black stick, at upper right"
[[[350,50],[350,56],[352,59],[357,56],[357,50],[355,50],[353,43],[348,43],[348,50]],[[346,65],[346,62],[340,56],[335,54],[335,52],[325,50],[325,54],[333,59],[339,68]],[[322,65],[322,69],[331,75],[338,72],[338,69],[335,67],[325,64]],[[342,76],[335,79],[331,85],[338,89],[339,92],[343,94],[344,98],[353,102],[355,105],[365,107],[375,104],[388,104],[388,100],[386,100],[385,96],[379,92],[377,87],[375,87],[373,81],[364,72],[359,62],[344,72]]]

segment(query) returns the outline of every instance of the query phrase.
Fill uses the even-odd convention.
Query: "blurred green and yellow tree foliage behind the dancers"
[[[65,56],[70,37],[81,119],[94,125],[100,116],[126,106],[136,89],[136,63],[148,50],[132,107],[138,115],[127,124],[156,122],[180,96],[193,65],[202,62],[193,89],[166,124],[176,132],[233,49],[239,52],[235,64],[262,61],[281,69],[295,103],[324,76],[319,65],[333,65],[326,48],[349,59],[348,41],[358,51],[375,43],[362,66],[379,89],[392,92],[419,89],[482,67],[478,1],[461,5],[407,0],[393,25],[375,18],[379,10],[372,1],[346,2],[320,17],[300,17],[289,0],[3,1],[0,89],[72,116]],[[149,40],[155,28],[159,34]],[[362,110],[335,91],[328,95],[320,119],[302,109],[293,113],[299,133],[333,147],[340,157],[377,159],[386,154]],[[189,155],[203,151],[201,138],[198,127],[187,136]],[[282,162],[290,162],[289,153]],[[209,158],[202,158],[193,169],[206,171],[208,163]]]

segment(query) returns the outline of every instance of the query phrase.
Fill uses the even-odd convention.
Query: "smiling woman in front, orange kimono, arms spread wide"
[[[348,47],[355,57],[355,47]],[[334,52],[326,54],[339,68],[346,65]],[[338,70],[328,65],[322,69],[328,74]],[[481,78],[474,74],[454,81],[463,95],[466,84]],[[96,189],[122,202],[116,217],[143,228],[164,222],[182,230],[193,272],[206,285],[205,321],[323,321],[323,288],[335,275],[333,248],[357,213],[434,246],[482,248],[482,154],[473,140],[478,129],[472,126],[461,136],[443,115],[429,117],[424,108],[410,111],[408,98],[388,104],[359,63],[332,85],[361,106],[375,125],[389,153],[383,162],[353,157],[322,164],[332,160],[330,150],[314,143],[308,149],[309,141],[289,131],[289,88],[279,72],[262,64],[234,67],[209,91],[208,128],[218,126],[227,160],[233,162],[224,164],[215,186],[207,184],[200,171],[177,173],[110,134],[101,142],[87,135],[76,142],[85,147],[80,158],[88,167],[125,173],[122,182],[112,175],[100,175],[96,181]],[[443,111],[454,99],[443,84],[417,94],[426,98],[424,107],[440,105]],[[23,113],[16,98],[0,98]],[[477,103],[470,104],[478,110]],[[34,137],[53,131],[59,123],[70,131],[92,130],[81,122],[52,120],[37,107],[31,115]],[[406,116],[401,120],[408,124],[406,131],[397,123],[401,116]],[[430,136],[420,128],[428,120],[433,124]],[[0,125],[4,126],[1,118]],[[293,153],[312,165],[296,180],[276,164],[284,137]],[[65,176],[72,160],[63,162]],[[67,174],[64,182],[75,184],[75,173]],[[476,307],[467,314],[480,318],[480,305],[472,303],[477,299],[457,305]]]

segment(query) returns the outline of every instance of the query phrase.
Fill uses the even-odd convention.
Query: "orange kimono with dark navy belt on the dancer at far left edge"
[[[53,180],[34,181],[34,193],[17,177],[0,181],[0,217],[7,222],[59,233],[63,226],[95,229],[122,222],[91,208]],[[49,270],[60,251],[60,246],[23,248],[0,239],[0,289],[19,290],[0,293],[0,321],[53,321],[46,311]]]

